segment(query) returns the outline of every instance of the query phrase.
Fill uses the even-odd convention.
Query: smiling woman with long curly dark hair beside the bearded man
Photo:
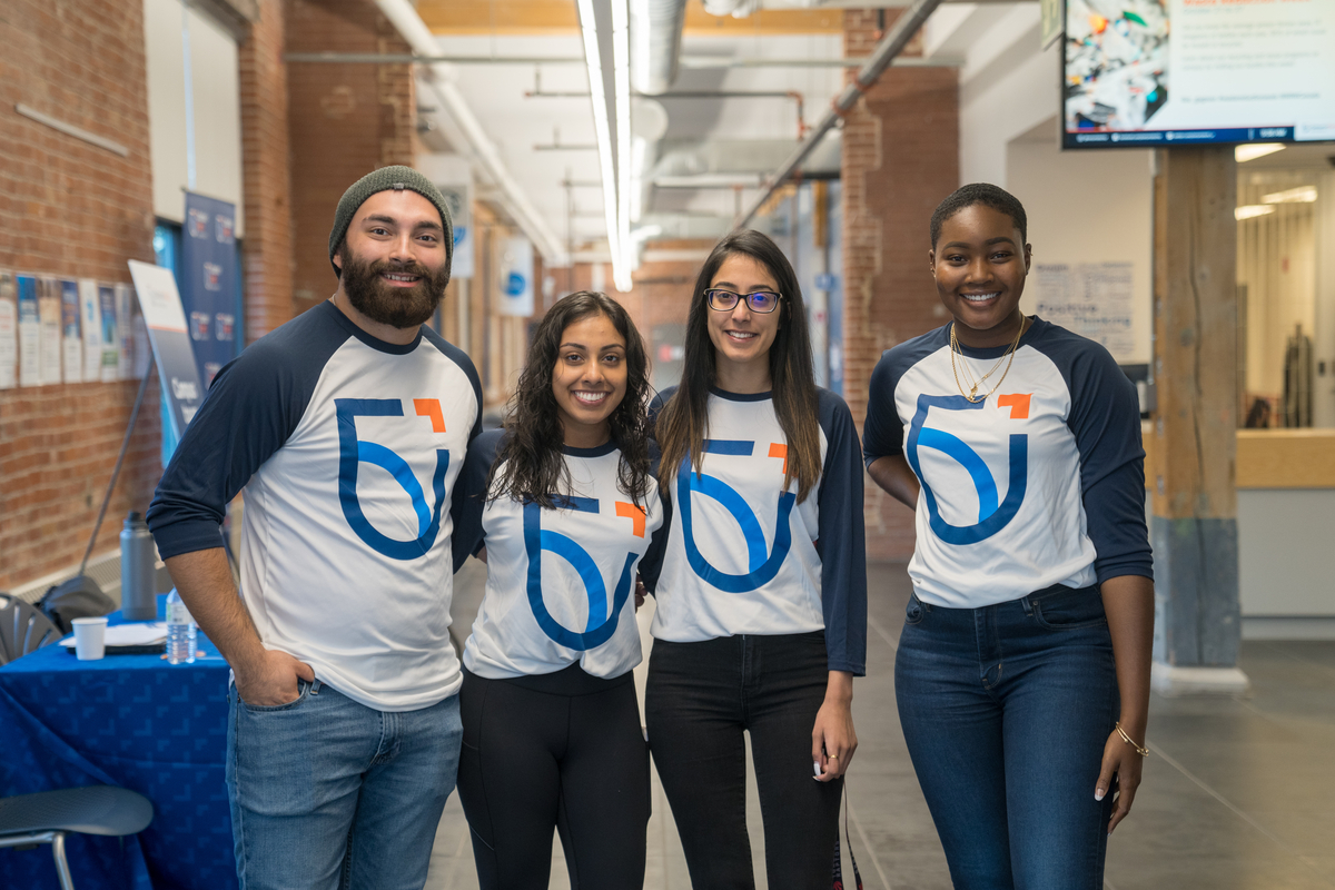
[[[645,430],[647,356],[603,294],[543,316],[503,431],[469,448],[455,567],[487,587],[463,650],[459,799],[481,885],[546,890],[555,827],[570,883],[639,887],[649,753],[635,567],[662,524]]]

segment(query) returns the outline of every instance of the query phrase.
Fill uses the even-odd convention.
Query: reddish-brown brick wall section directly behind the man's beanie
[[[287,52],[410,52],[366,0],[287,0],[286,11]],[[413,163],[413,93],[410,65],[287,67],[294,312],[338,287],[328,236],[347,187],[379,167]]]

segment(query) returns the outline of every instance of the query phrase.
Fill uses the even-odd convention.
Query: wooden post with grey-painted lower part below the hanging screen
[[[1155,689],[1247,690],[1238,670],[1238,168],[1159,149],[1155,176]]]

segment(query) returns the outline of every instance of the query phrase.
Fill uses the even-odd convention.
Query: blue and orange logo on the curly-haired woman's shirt
[[[594,515],[599,512],[597,498],[557,495],[557,502],[567,510],[591,512]],[[637,538],[645,536],[643,510],[633,503],[618,500],[617,515],[630,519],[630,531],[633,535]],[[594,648],[611,639],[611,635],[617,632],[617,620],[621,618],[621,610],[626,604],[630,588],[634,584],[634,567],[639,554],[626,554],[626,563],[621,568],[621,578],[617,580],[611,608],[609,610],[607,583],[603,580],[598,563],[594,562],[587,550],[575,543],[570,536],[562,535],[559,531],[543,528],[542,507],[535,503],[526,503],[523,506],[523,548],[529,556],[529,606],[533,608],[533,616],[538,619],[538,627],[542,628],[542,632],[562,646],[578,650]],[[570,630],[553,618],[547,610],[547,603],[542,598],[543,550],[570,563],[583,583],[585,596],[589,600],[589,618],[585,620],[582,631]]]

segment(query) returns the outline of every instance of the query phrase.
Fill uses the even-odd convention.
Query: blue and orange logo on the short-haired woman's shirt
[[[1009,408],[1012,420],[1027,420],[1029,418],[1029,400],[1032,394],[1020,392],[999,396],[996,407]],[[987,402],[969,402],[963,395],[920,395],[917,412],[909,424],[909,438],[905,443],[905,456],[913,472],[922,482],[922,494],[926,499],[928,519],[936,536],[948,544],[976,544],[997,534],[1015,519],[1020,504],[1024,503],[1025,487],[1029,482],[1029,436],[1023,432],[1011,434],[1011,475],[1007,486],[1005,499],[997,503],[997,483],[992,471],[977,451],[969,447],[963,439],[945,430],[936,430],[924,426],[928,411],[937,408],[941,411],[981,411]],[[922,466],[918,460],[918,448],[933,448],[953,458],[969,474],[973,487],[979,495],[979,520],[972,526],[952,526],[944,518],[936,503],[936,494],[922,475]]]

